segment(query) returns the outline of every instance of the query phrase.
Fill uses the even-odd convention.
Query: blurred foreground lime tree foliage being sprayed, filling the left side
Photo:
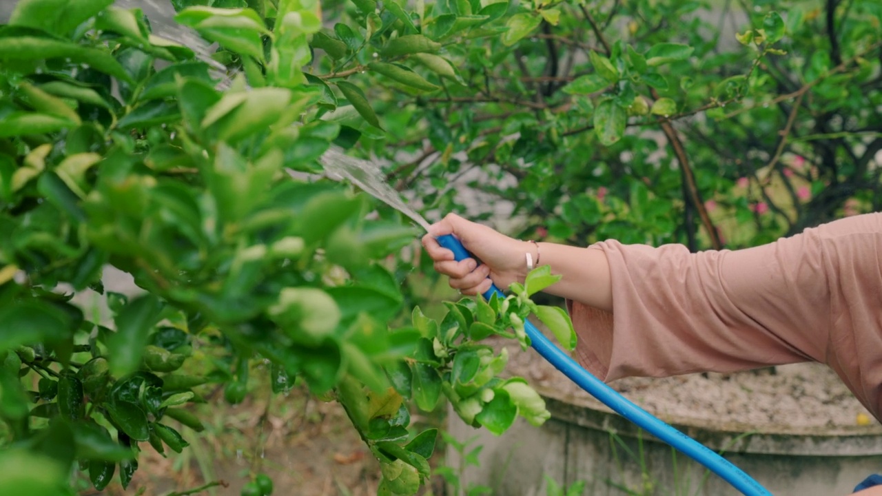
[[[388,94],[440,88],[417,60],[455,75],[435,54],[450,39],[440,21],[420,34],[444,14],[360,3],[359,22],[328,30],[317,1],[176,1],[176,21],[220,46],[201,60],[110,4],[23,0],[0,27],[0,493],[128,486],[139,453],[181,452],[180,426],[202,429],[188,409],[202,385],[241,402],[258,364],[275,393],[299,382],[343,405],[380,494],[430,477],[437,431],[408,429],[412,404],[446,397],[495,433],[549,417],[482,340],[526,348],[535,313],[572,349],[563,311],[530,300],[556,277],[537,270],[510,297],[429,319],[385,264],[419,233],[321,178],[332,143],[385,136],[363,71]],[[105,291],[108,266],[138,293]],[[88,291],[109,318],[71,302]],[[194,349],[205,373],[187,367]]]

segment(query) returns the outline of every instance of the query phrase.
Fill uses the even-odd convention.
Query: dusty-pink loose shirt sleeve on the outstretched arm
[[[738,251],[616,241],[613,311],[567,302],[576,358],[602,380],[829,365],[882,419],[882,213]]]

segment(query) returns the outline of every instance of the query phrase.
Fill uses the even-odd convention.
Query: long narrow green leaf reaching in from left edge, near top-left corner
[[[43,58],[70,59],[71,62],[89,65],[116,79],[132,83],[129,73],[104,49],[92,49],[70,41],[50,40],[35,36],[0,37],[0,60],[40,60]]]

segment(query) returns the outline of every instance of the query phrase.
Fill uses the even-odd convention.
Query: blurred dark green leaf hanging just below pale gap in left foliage
[[[148,294],[132,300],[116,314],[116,333],[108,339],[108,358],[114,375],[125,375],[138,368],[150,329],[161,318],[161,308],[159,298]]]

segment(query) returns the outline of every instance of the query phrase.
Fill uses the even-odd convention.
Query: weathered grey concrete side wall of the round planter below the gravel
[[[509,432],[496,437],[464,425],[451,412],[450,432],[459,440],[476,436],[471,446],[483,446],[480,466],[464,471],[466,485],[489,485],[493,494],[538,496],[545,494],[547,475],[557,484],[584,480],[585,494],[592,496],[740,493],[611,410],[537,390],[552,416],[539,428],[519,420]],[[844,496],[864,477],[882,473],[882,427],[878,425],[826,431],[779,428],[745,434],[754,428],[665,420],[714,451],[724,452],[775,496]],[[460,466],[459,455],[448,450],[447,464]]]

